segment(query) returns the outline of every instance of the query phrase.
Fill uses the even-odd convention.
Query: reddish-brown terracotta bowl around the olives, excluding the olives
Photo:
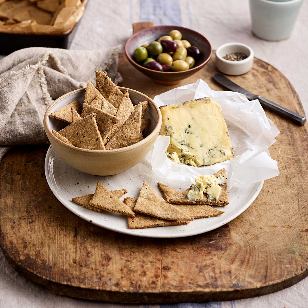
[[[188,40],[192,46],[197,46],[201,52],[201,57],[196,61],[195,67],[188,71],[181,72],[160,72],[153,71],[135,62],[132,58],[137,47],[145,43],[151,43],[161,36],[168,34],[171,30],[179,30],[182,33],[182,39]],[[199,71],[209,61],[212,55],[212,47],[209,41],[200,33],[188,28],[179,26],[156,26],[141,30],[133,34],[125,44],[125,55],[130,63],[144,75],[154,79],[161,84],[176,84],[197,71]]]

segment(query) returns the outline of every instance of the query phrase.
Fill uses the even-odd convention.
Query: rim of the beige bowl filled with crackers
[[[75,151],[79,151],[79,152],[87,152],[87,153],[96,153],[96,154],[103,154],[103,153],[118,153],[118,152],[126,152],[126,151],[129,151],[131,149],[134,149],[134,148],[137,148],[138,146],[140,145],[143,145],[143,144],[146,144],[148,141],[151,140],[151,138],[153,136],[156,135],[156,133],[159,133],[160,131],[160,127],[161,127],[161,123],[162,123],[162,116],[161,116],[161,113],[160,113],[160,110],[158,108],[158,106],[156,105],[156,103],[154,103],[154,101],[149,98],[147,95],[139,92],[139,91],[136,91],[136,90],[133,90],[133,89],[130,89],[130,88],[126,88],[126,87],[118,87],[120,90],[123,90],[123,91],[126,91],[128,90],[128,92],[134,92],[135,94],[138,94],[140,96],[142,96],[144,99],[146,99],[150,104],[152,104],[152,106],[154,107],[154,109],[156,110],[156,113],[157,113],[157,124],[155,126],[155,128],[152,130],[152,132],[150,132],[148,134],[148,136],[146,136],[143,140],[139,141],[139,142],[136,142],[135,144],[132,144],[132,145],[129,145],[127,147],[124,147],[124,148],[119,148],[119,149],[112,149],[112,150],[90,150],[90,149],[83,149],[83,148],[78,148],[78,147],[75,147],[75,146],[72,146],[70,144],[67,144],[65,142],[63,142],[62,140],[60,140],[59,138],[57,138],[52,132],[51,132],[51,129],[49,128],[48,124],[47,124],[47,119],[48,119],[48,116],[49,116],[49,113],[50,113],[50,110],[52,107],[54,107],[59,101],[61,101],[63,98],[73,94],[73,93],[77,93],[77,92],[80,92],[80,91],[84,91],[85,88],[80,88],[80,89],[76,89],[74,91],[71,91],[71,92],[68,92],[62,96],[60,96],[58,99],[56,99],[53,103],[51,103],[49,105],[49,107],[47,108],[47,110],[45,111],[45,115],[44,115],[44,120],[43,120],[43,124],[44,124],[44,130],[45,130],[45,133],[47,134],[47,136],[51,137],[55,142],[58,142],[64,146],[66,146],[67,148],[70,148],[72,150],[75,150]],[[60,121],[60,120],[59,120]]]

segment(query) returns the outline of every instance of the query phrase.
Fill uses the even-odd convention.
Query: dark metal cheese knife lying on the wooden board
[[[226,87],[227,89],[238,92],[241,94],[244,94],[249,100],[258,99],[262,107],[266,107],[267,109],[291,120],[292,122],[298,124],[298,125],[304,125],[306,122],[306,117],[303,115],[299,115],[298,113],[291,111],[285,107],[282,107],[269,99],[266,99],[265,97],[261,95],[255,95],[242,87],[238,86],[236,83],[232,82],[230,79],[225,77],[221,74],[214,74],[213,78]]]

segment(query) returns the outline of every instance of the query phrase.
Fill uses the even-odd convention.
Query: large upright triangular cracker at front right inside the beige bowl
[[[140,123],[141,104],[139,103],[135,111],[108,141],[106,144],[106,149],[112,150],[124,148],[141,141],[143,136],[140,133]]]

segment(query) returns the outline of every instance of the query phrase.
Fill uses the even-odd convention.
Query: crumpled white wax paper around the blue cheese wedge
[[[170,160],[165,151],[169,136],[158,136],[150,157],[152,170],[172,184],[185,187],[202,174],[213,174],[225,168],[228,189],[260,182],[279,175],[277,161],[270,157],[268,148],[279,130],[265,115],[257,99],[249,101],[245,95],[231,91],[213,91],[201,79],[196,83],[156,95],[154,102],[160,107],[187,100],[211,97],[220,103],[228,126],[234,158],[211,166],[193,167]]]

